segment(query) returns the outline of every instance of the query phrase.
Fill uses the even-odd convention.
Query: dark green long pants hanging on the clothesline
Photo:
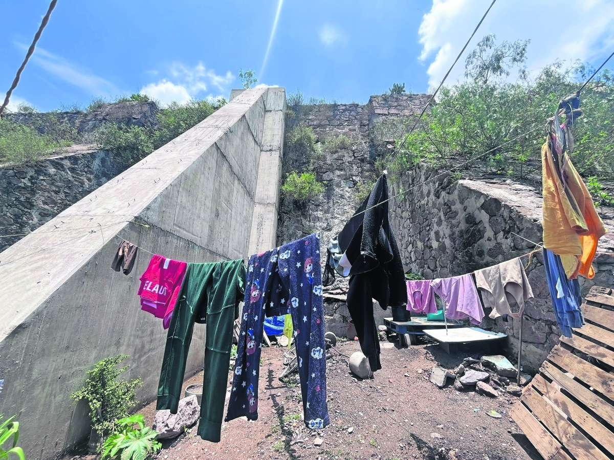
[[[175,414],[194,322],[204,319],[207,324],[198,434],[211,442],[220,441],[233,322],[238,315],[239,300],[243,300],[245,275],[243,260],[188,263],[166,337],[156,408],[169,409]]]

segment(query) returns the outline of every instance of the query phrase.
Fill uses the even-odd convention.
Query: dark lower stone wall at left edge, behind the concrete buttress
[[[111,152],[87,148],[34,165],[0,168],[0,235],[33,232],[124,169],[112,161]],[[0,238],[0,252],[23,236]]]

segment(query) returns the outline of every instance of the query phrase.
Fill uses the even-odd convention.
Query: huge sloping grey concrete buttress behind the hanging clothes
[[[141,376],[139,400],[155,399],[166,332],[136,295],[150,254],[139,250],[128,276],[112,271],[117,236],[187,262],[247,257],[266,193],[266,117],[284,104],[282,88],[241,93],[0,253],[0,413],[18,415],[28,458],[53,458],[88,435],[70,395],[104,357],[130,355],[125,378]],[[203,365],[204,332],[196,325],[186,375]]]

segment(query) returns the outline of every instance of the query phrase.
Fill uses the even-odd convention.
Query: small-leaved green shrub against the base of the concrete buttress
[[[87,372],[88,378],[82,389],[71,397],[78,402],[84,399],[90,405],[91,427],[103,437],[107,432],[115,431],[119,419],[128,415],[136,405],[134,390],[142,385],[141,378],[131,381],[119,380],[119,375],[128,367],[117,368],[128,356],[118,354],[99,361]]]

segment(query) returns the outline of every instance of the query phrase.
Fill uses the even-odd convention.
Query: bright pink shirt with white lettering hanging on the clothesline
[[[141,275],[141,309],[163,318],[164,329],[168,329],[177,303],[179,289],[184,280],[187,263],[153,255],[147,270]]]

